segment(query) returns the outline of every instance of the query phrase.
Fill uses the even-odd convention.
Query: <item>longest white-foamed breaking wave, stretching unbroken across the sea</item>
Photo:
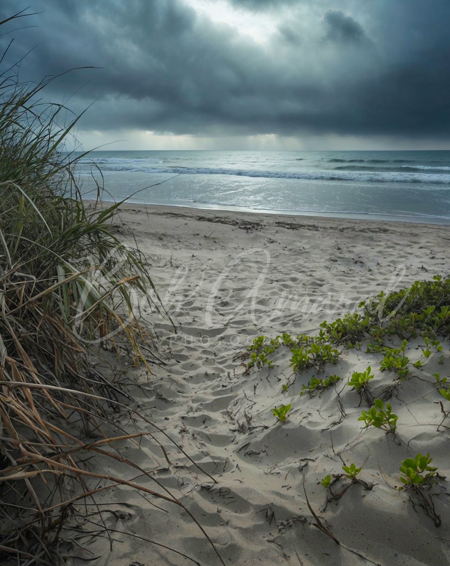
[[[236,175],[237,177],[259,177],[274,179],[311,179],[320,181],[367,181],[367,182],[399,182],[399,183],[439,183],[450,185],[450,175],[377,171],[258,171],[244,169],[224,169],[207,167],[133,167],[128,165],[111,165],[107,170],[142,173],[167,173],[172,175]],[[105,169],[106,171],[106,169]]]

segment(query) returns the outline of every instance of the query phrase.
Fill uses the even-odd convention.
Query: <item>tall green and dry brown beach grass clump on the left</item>
[[[67,518],[100,491],[124,484],[184,506],[106,449],[152,436],[170,465],[157,426],[135,413],[149,431],[127,434],[112,421],[132,398],[89,355],[112,350],[151,372],[157,351],[137,299],[163,308],[139,250],[114,234],[118,204],[81,198],[76,165],[86,154],[64,145],[78,117],[64,121],[67,109],[43,100],[53,79],[21,82],[18,68],[0,74],[0,561],[60,564]],[[92,471],[86,453],[113,458],[123,475]],[[161,489],[130,481],[129,469]]]

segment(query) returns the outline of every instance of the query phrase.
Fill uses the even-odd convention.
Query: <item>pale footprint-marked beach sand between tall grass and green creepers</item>
[[[394,372],[380,372],[382,354],[366,354],[367,341],[361,349],[344,350],[324,372],[311,368],[295,376],[289,367],[291,352],[280,346],[273,368],[245,373],[246,348],[258,335],[314,335],[324,319],[330,322],[355,310],[366,297],[447,275],[449,228],[137,204],[122,205],[120,220],[116,233],[136,243],[148,259],[177,331],[168,320],[148,314],[164,364],[152,366],[154,375],[131,368],[129,376],[142,389],[129,391],[140,413],[162,427],[217,483],[162,436],[158,439],[169,467],[150,441],[141,448],[123,444],[120,454],[155,470],[153,477],[204,527],[223,563],[449,564],[448,482],[425,491],[427,497],[437,494],[432,501],[442,521],[439,527],[416,494],[397,489],[401,461],[417,452],[430,452],[439,473],[450,473],[448,431],[436,431],[442,421],[439,401],[447,401],[432,377],[436,371],[450,375],[448,342],[443,342],[439,364],[438,353],[423,357],[423,338],[409,341],[405,355],[412,362],[422,359],[423,368],[409,366],[412,371],[401,383]],[[374,427],[362,430],[357,420],[367,405],[346,383],[353,371],[369,365],[374,397],[396,384],[390,400],[399,415],[395,435]],[[329,374],[341,377],[335,388],[299,395],[311,376]],[[292,385],[284,392],[287,383]],[[285,422],[276,422],[271,408],[282,404],[292,408]],[[450,419],[445,424],[450,426]],[[139,419],[125,419],[122,426],[127,432],[152,430]],[[341,473],[343,462],[361,466],[358,477],[374,486],[366,490],[352,484],[326,504],[330,491],[320,481]],[[102,460],[90,466],[101,468]],[[119,473],[109,460],[107,467],[111,475]],[[146,478],[140,482],[162,492]],[[332,490],[337,493],[349,483],[341,478]],[[145,539],[183,552],[202,566],[220,564],[198,526],[176,505],[123,486],[97,500],[114,511],[105,518],[115,529],[112,550],[106,537],[93,538],[84,545],[88,550],[76,550],[79,558],[71,564],[85,564],[81,558],[92,556],[98,556],[96,566],[194,563]],[[314,526],[314,515],[340,544]]]

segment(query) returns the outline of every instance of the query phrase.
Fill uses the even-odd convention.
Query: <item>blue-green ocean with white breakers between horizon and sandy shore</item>
[[[105,200],[450,224],[450,151],[94,151],[84,198],[94,162]]]

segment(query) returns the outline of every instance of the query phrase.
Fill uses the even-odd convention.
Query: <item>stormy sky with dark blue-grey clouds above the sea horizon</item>
[[[85,148],[450,148],[449,0],[2,0]],[[21,26],[33,26],[17,29]]]

